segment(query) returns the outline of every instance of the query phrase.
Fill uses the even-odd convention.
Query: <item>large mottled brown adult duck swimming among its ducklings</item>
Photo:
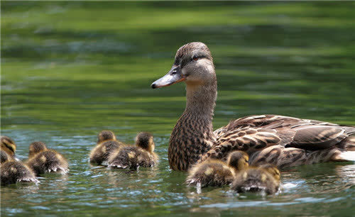
[[[204,43],[188,43],[179,48],[168,74],[151,87],[178,82],[186,83],[187,103],[170,137],[168,159],[172,169],[186,171],[199,160],[210,157],[225,160],[231,150],[252,155],[271,145],[307,152],[339,149],[340,152],[328,157],[329,161],[344,160],[339,153],[355,150],[355,127],[288,116],[247,116],[213,131],[217,78],[211,52]]]

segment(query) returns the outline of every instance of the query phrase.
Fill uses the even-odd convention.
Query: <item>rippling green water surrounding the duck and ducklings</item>
[[[186,187],[168,166],[184,84],[153,90],[184,43],[209,45],[219,95],[214,128],[261,113],[355,125],[354,2],[2,2],[1,134],[42,140],[70,174],[1,187],[1,215],[351,216],[353,163],[282,173],[274,196]],[[160,164],[91,166],[100,130],[155,136]]]

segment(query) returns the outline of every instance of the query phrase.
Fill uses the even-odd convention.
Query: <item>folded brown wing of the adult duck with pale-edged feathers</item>
[[[229,122],[215,131],[217,141],[202,155],[226,159],[232,150],[244,150],[251,155],[272,145],[303,150],[323,150],[355,134],[353,126],[277,115],[246,116]]]

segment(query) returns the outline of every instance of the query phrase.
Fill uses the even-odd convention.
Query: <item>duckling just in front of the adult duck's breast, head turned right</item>
[[[248,160],[249,156],[242,151],[231,152],[227,162],[214,159],[206,160],[189,170],[186,183],[201,187],[231,184],[238,171],[249,167]]]

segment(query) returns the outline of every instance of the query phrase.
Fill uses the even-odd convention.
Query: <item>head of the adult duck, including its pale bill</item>
[[[187,87],[214,83],[216,74],[211,52],[200,42],[182,45],[168,74],[151,84],[153,89],[185,81]],[[189,85],[191,84],[191,85]]]

